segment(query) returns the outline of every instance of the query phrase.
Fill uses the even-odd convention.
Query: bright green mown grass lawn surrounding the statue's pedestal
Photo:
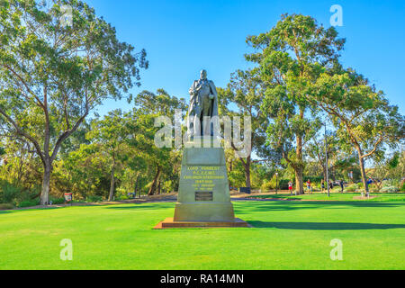
[[[404,202],[235,202],[255,228],[153,230],[174,203],[0,211],[0,269],[404,269]],[[73,241],[62,261],[60,240]],[[343,261],[329,257],[343,242]]]

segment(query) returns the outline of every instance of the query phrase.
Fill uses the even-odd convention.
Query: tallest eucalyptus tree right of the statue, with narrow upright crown
[[[320,128],[308,87],[324,67],[336,65],[345,40],[311,16],[284,14],[271,31],[250,36],[247,43],[257,52],[246,58],[259,65],[266,85],[261,109],[272,119],[267,142],[293,167],[297,193],[303,193],[303,148]]]

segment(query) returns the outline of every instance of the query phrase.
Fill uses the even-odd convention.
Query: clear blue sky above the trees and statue
[[[340,37],[347,39],[342,62],[382,89],[405,113],[405,1],[138,1],[87,0],[112,23],[122,41],[146,49],[150,67],[142,90],[164,88],[188,100],[188,89],[202,68],[217,86],[249,64],[247,35],[269,31],[280,15],[306,14],[329,27],[332,4],[343,8]],[[98,112],[130,109],[126,101],[106,101]]]

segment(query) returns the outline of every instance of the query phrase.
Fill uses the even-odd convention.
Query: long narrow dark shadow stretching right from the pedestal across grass
[[[248,221],[254,228],[302,229],[302,230],[360,230],[360,229],[399,229],[405,224],[372,224],[340,222],[264,222]]]

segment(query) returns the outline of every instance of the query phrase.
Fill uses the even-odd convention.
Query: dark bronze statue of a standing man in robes
[[[212,117],[218,117],[218,93],[207,71],[201,71],[199,80],[194,81],[189,90],[190,106],[188,108],[187,127],[189,137],[213,136]]]

